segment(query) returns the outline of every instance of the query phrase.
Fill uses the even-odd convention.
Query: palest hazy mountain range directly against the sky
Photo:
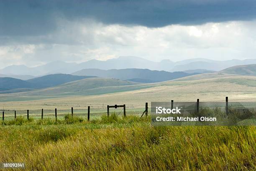
[[[63,61],[54,61],[37,67],[27,67],[25,65],[10,65],[0,70],[5,75],[47,75],[56,73],[74,73],[82,69],[125,69],[125,68],[141,68],[150,70],[165,70],[169,72],[184,70],[213,70],[219,71],[235,65],[248,65],[256,63],[256,59],[246,60],[209,60],[205,58],[194,58],[173,62],[171,60],[162,60],[161,62],[153,62],[139,57],[125,56],[105,61],[89,60],[83,63],[67,63]]]

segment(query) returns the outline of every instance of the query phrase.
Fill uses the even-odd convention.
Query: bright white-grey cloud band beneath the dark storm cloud
[[[255,58],[256,20],[161,28],[89,22],[63,22],[62,25],[66,27],[45,36],[44,41],[34,37],[35,43],[0,46],[0,68],[11,64],[34,66],[54,60],[83,62],[127,55],[154,61]]]

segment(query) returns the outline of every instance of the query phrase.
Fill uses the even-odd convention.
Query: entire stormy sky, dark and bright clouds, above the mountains
[[[0,68],[256,58],[255,0],[0,0]]]

